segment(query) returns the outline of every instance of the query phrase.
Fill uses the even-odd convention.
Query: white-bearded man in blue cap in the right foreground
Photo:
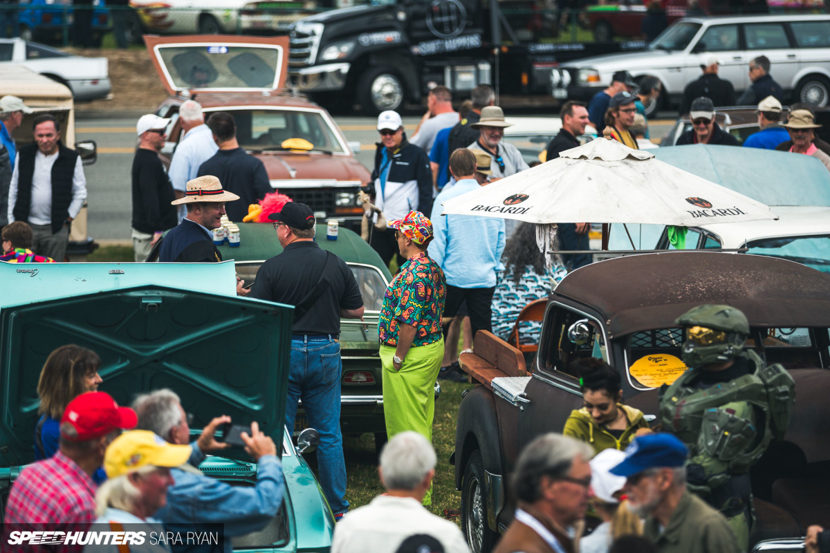
[[[686,491],[688,454],[672,434],[649,434],[634,439],[611,473],[627,478],[628,508],[646,517],[643,535],[658,553],[740,551],[723,515]]]

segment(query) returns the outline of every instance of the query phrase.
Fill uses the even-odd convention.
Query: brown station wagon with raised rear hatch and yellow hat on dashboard
[[[363,210],[359,188],[369,171],[354,158],[331,115],[305,96],[285,90],[286,36],[145,36],[150,57],[170,97],[156,111],[171,118],[166,163],[182,138],[178,108],[195,99],[205,119],[230,112],[239,145],[265,163],[271,186],[315,210],[318,220],[358,230]],[[286,141],[300,138],[304,143]],[[237,221],[240,222],[240,221]]]

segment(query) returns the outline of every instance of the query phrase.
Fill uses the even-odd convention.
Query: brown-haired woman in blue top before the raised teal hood
[[[58,347],[49,354],[37,382],[37,395],[41,398],[41,418],[35,427],[37,461],[57,453],[66,405],[84,392],[98,390],[103,382],[98,375],[100,364],[97,353],[75,344]]]

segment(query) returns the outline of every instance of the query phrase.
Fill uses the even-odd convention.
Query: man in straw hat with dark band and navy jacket
[[[211,231],[222,226],[225,202],[238,199],[233,192],[222,189],[217,177],[205,175],[188,181],[184,197],[170,202],[173,206],[186,206],[188,215],[164,236],[159,261],[222,261]]]

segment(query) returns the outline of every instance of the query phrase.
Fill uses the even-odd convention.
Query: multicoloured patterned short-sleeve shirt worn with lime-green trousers
[[[440,340],[446,295],[447,279],[441,267],[423,253],[409,258],[383,294],[380,343],[397,346],[400,323],[416,328],[413,347]]]

